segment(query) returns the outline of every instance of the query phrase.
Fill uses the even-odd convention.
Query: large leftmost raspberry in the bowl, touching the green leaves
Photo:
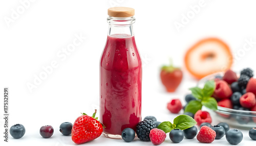
[[[214,97],[219,99],[227,99],[232,95],[232,90],[228,86],[226,81],[217,81],[216,88],[214,90]]]

